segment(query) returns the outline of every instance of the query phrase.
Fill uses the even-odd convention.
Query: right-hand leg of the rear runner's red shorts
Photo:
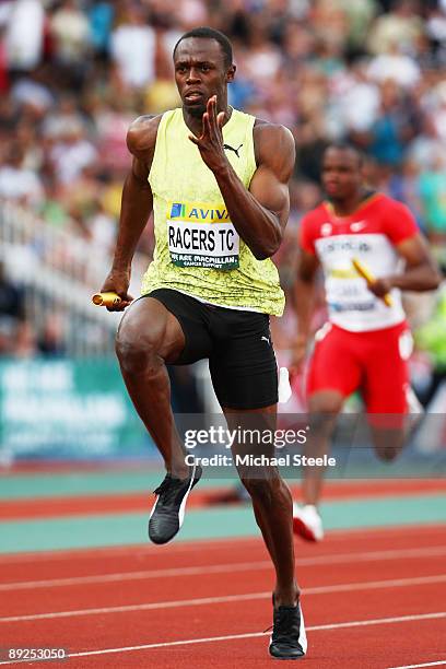
[[[363,398],[367,413],[406,413],[411,334],[407,326],[375,333],[366,359]]]

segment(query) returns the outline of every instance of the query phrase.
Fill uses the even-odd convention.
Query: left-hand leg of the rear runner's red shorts
[[[355,334],[331,324],[316,333],[307,378],[309,398],[329,390],[347,398],[360,387],[362,365],[354,345]]]

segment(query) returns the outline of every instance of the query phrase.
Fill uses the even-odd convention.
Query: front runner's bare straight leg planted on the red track
[[[223,407],[230,429],[274,431],[277,407],[242,411]],[[233,455],[263,453],[273,455],[273,447],[244,444],[233,446]],[[294,576],[294,544],[292,526],[292,497],[275,467],[239,468],[240,479],[253,500],[253,508],[267,549],[275,568],[274,603],[294,606],[300,590]]]

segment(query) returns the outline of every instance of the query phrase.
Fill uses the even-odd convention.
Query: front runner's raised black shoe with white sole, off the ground
[[[153,491],[156,500],[149,519],[149,538],[153,543],[167,543],[178,532],[185,519],[187,497],[201,474],[202,469],[197,465],[188,479],[175,479],[167,473]]]

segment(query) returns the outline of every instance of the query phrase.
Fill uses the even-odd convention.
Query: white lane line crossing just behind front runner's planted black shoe
[[[307,632],[319,632],[324,630],[345,630],[349,627],[366,627],[368,625],[389,625],[394,623],[404,623],[421,620],[435,620],[446,618],[446,611],[438,611],[435,613],[418,613],[412,615],[399,615],[395,618],[375,618],[371,620],[354,620],[343,623],[329,623],[326,625],[313,625],[307,627]],[[103,648],[101,650],[83,650],[81,653],[70,653],[68,657],[89,657],[92,655],[109,655],[113,653],[131,653],[132,650],[150,650],[151,648],[166,648],[172,646],[187,646],[192,644],[208,644],[212,642],[224,642],[240,638],[256,638],[259,636],[267,636],[270,632],[250,632],[246,634],[226,634],[225,636],[207,636],[203,638],[185,638],[175,642],[161,642],[156,644],[144,644],[141,646],[122,646],[120,648]],[[12,660],[2,661],[0,665],[19,665],[23,661],[30,660]],[[32,660],[33,661],[33,660]],[[39,661],[39,660],[37,660]],[[403,669],[399,667],[398,669]]]

